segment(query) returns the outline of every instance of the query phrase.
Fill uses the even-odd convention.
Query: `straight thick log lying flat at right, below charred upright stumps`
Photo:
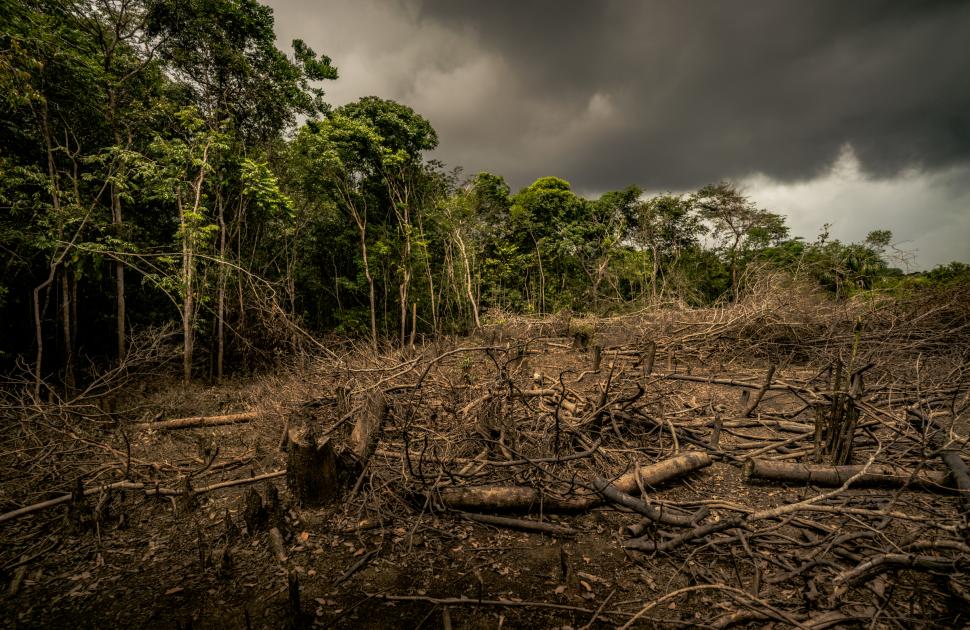
[[[861,465],[825,466],[821,464],[795,464],[767,459],[749,459],[744,464],[744,476],[748,479],[770,479],[792,483],[813,484],[837,488],[847,479],[865,468]],[[892,486],[940,490],[947,487],[946,473],[932,470],[913,471],[899,466],[873,464],[866,474],[855,481],[856,486]]]

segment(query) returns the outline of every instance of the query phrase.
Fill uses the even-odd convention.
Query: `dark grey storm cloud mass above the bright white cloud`
[[[846,143],[878,175],[970,157],[970,3],[426,0],[420,16],[476,33],[527,116],[568,126],[608,99],[598,132],[545,164],[593,188],[810,177]],[[497,139],[530,122],[480,120]]]

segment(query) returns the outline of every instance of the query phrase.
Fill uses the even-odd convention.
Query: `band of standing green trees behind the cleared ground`
[[[255,0],[0,8],[0,368],[37,393],[163,328],[186,382],[218,380],[307,333],[405,345],[490,309],[710,304],[765,266],[836,297],[902,277],[888,232],[805,241],[730,183],[587,199],[463,177],[427,158],[437,134],[409,107],[330,107],[337,68],[279,50]]]

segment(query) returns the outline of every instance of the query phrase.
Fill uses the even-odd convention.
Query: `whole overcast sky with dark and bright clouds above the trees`
[[[970,262],[970,2],[268,4],[283,50],[333,59],[328,102],[412,107],[466,174],[728,180],[809,240],[889,229],[908,270]]]

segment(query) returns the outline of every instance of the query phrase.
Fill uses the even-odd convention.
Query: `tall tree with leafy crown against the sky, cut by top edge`
[[[216,306],[216,374],[221,378],[230,241],[234,237],[238,258],[243,250],[243,225],[275,220],[271,214],[246,215],[244,167],[292,127],[297,115],[318,116],[329,110],[323,91],[310,82],[336,79],[337,69],[329,57],[318,56],[299,39],[293,41],[293,59],[287,58],[276,48],[272,9],[255,0],[153,0],[146,22],[159,54],[188,90],[206,125],[230,135],[210,177],[216,184],[213,205],[222,261],[217,270]],[[256,244],[251,245],[248,249],[257,252]],[[238,330],[243,328],[246,308],[244,265],[241,260],[236,262]],[[288,286],[293,285],[292,273],[288,266]],[[292,310],[292,292],[290,297]]]

